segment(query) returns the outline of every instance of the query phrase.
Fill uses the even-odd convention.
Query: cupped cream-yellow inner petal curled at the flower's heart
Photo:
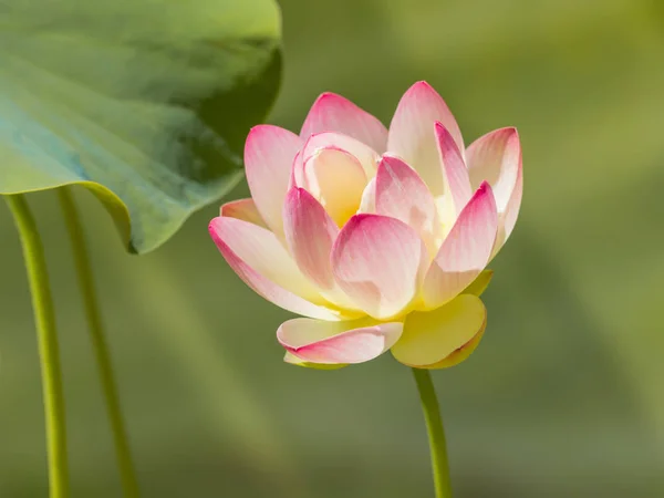
[[[344,151],[321,148],[304,162],[302,187],[339,226],[357,211],[365,185],[364,169],[355,156]]]

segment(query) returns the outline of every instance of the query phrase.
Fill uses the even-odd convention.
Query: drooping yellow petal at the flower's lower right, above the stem
[[[409,313],[392,354],[408,366],[452,366],[475,350],[486,323],[487,310],[481,300],[461,294],[436,310]]]

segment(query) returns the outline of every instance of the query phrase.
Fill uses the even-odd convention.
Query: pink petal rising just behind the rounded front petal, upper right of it
[[[402,220],[433,242],[439,226],[436,204],[415,169],[397,157],[383,156],[375,196],[377,215]]]

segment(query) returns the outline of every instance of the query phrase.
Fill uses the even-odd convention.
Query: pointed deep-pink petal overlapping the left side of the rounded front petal
[[[335,287],[330,262],[339,227],[325,209],[303,188],[294,187],[286,196],[283,231],[298,267],[321,289]]]

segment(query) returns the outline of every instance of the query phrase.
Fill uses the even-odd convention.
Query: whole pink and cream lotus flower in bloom
[[[251,129],[250,199],[221,207],[210,235],[257,293],[305,318],[279,326],[286,361],[330,369],[387,350],[414,367],[447,367],[487,321],[483,271],[521,204],[515,128],[464,146],[425,82],[402,97],[390,129],[322,94],[299,135]]]

